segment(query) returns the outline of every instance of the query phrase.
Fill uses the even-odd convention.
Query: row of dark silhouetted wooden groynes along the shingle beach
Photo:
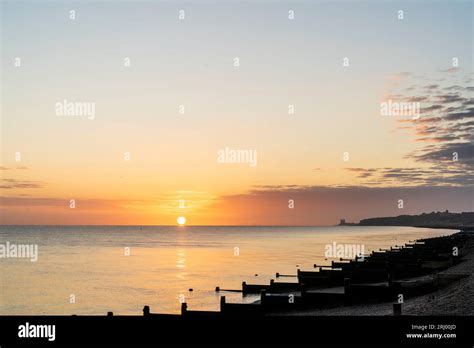
[[[385,251],[374,251],[362,258],[340,259],[317,270],[297,271],[297,282],[271,280],[269,284],[242,283],[247,294],[260,294],[255,303],[228,303],[221,296],[219,311],[193,311],[182,304],[183,317],[248,317],[310,308],[347,306],[357,303],[388,302],[420,296],[446,286],[466,275],[440,275],[439,272],[462,262],[473,247],[472,233],[410,241]],[[316,265],[315,265],[316,266]],[[279,275],[277,273],[277,275]],[[290,276],[290,275],[285,275]],[[277,276],[278,278],[278,276]],[[401,311],[401,306],[394,306]],[[145,306],[144,315],[150,313]]]

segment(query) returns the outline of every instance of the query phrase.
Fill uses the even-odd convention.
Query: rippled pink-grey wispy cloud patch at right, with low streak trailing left
[[[426,78],[405,75],[403,83],[409,87],[399,86],[389,94],[398,101],[421,104],[421,117],[400,119],[398,128],[411,131],[414,141],[421,145],[405,158],[420,163],[423,169],[392,168],[387,171],[378,168],[376,172],[366,169],[358,172],[358,179],[370,177],[373,183],[397,178],[400,184],[473,185],[474,98],[469,82],[471,78],[461,76],[458,68],[442,70],[441,73],[445,74],[439,79],[443,82],[428,84]]]

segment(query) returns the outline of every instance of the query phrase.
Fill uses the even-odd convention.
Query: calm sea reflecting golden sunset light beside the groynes
[[[190,309],[218,310],[216,286],[240,289],[244,280],[268,283],[276,272],[296,274],[297,268],[329,264],[325,245],[333,242],[363,244],[367,253],[450,233],[358,226],[0,226],[0,243],[39,248],[37,262],[0,259],[0,314],[141,315],[144,305],[152,312],[177,313],[180,295]],[[221,294],[233,302],[256,299]]]

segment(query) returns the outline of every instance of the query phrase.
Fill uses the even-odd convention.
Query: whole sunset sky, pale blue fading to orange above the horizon
[[[471,1],[4,1],[1,22],[2,224],[474,209]]]

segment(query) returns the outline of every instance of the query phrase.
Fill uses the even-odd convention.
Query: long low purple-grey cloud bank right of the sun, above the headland
[[[336,224],[342,218],[359,221],[365,217],[433,210],[469,211],[472,210],[472,194],[472,188],[456,186],[267,185],[255,186],[245,194],[223,196],[212,208],[216,212],[227,212],[231,221],[233,214],[239,216],[244,224]],[[294,201],[294,209],[288,207],[290,199]],[[404,200],[403,210],[398,209],[399,199]]]

